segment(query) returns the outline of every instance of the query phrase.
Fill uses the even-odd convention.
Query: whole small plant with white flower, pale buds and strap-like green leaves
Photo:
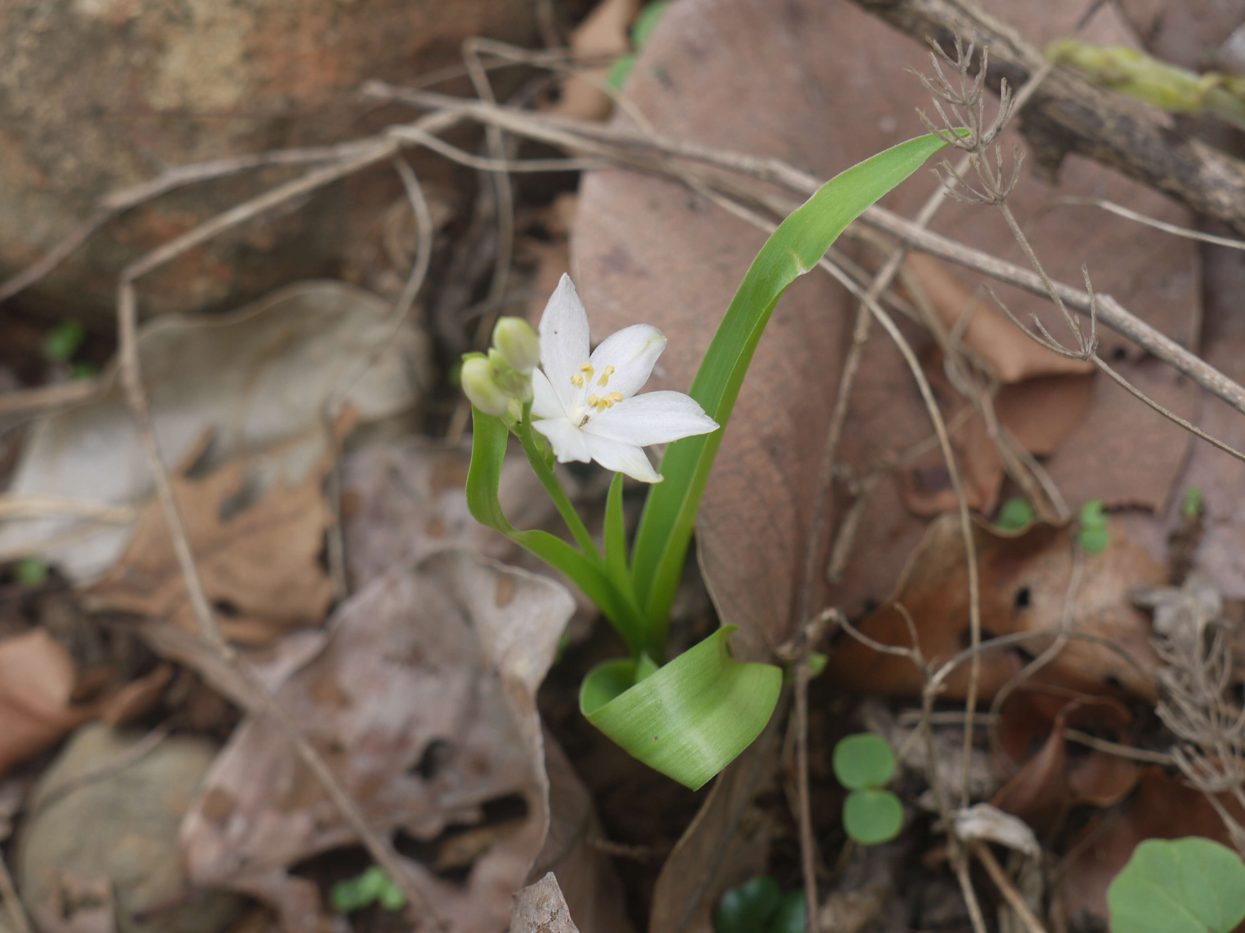
[[[687,396],[635,394],[665,346],[654,327],[624,328],[590,355],[588,316],[568,277],[549,300],[539,338],[519,318],[503,318],[488,355],[463,360],[462,386],[473,413],[472,515],[561,571],[600,607],[631,653],[589,672],[580,709],[630,754],[688,787],[700,787],[747,748],[769,720],[782,687],[779,668],[732,657],[731,627],[666,657],[670,607],[696,511],[752,353],[787,286],[813,269],[865,208],[944,146],[933,134],[900,143],[830,179],[793,210],[752,261]],[[502,514],[497,493],[510,434],[578,547],[545,531],[520,531]],[[670,447],[654,470],[641,448],[659,443]],[[596,460],[618,474],[606,499],[603,547],[559,485],[555,459]],[[652,484],[630,554],[624,474]]]

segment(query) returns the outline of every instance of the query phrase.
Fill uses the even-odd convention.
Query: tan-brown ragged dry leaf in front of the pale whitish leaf
[[[327,466],[326,459],[294,486],[265,475],[264,457],[235,458],[202,479],[172,479],[203,588],[228,638],[265,644],[324,620],[332,600],[320,564],[330,522]],[[86,595],[113,610],[197,628],[158,503],[143,509],[121,561]]]

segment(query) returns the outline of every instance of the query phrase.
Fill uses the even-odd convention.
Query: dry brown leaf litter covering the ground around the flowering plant
[[[621,0],[598,5],[571,35],[571,47],[604,57],[626,52],[637,7]],[[1082,9],[1057,4],[1042,22],[1020,4],[1006,4],[1001,12],[1045,42],[1069,32]],[[916,44],[848,4],[796,2],[771,14],[759,2],[681,0],[641,51],[627,95],[659,129],[777,156],[819,174],[919,132],[908,113],[923,95],[903,72],[905,63],[925,65]],[[1128,40],[1109,9],[1089,31],[1102,41]],[[844,51],[827,56],[827,49]],[[766,66],[774,50],[791,67]],[[596,72],[606,73],[608,67]],[[854,88],[850,106],[834,96],[844,86]],[[807,119],[809,107],[825,118]],[[568,81],[555,112],[600,119],[609,103],[590,82]],[[626,119],[616,117],[621,124]],[[914,179],[888,205],[911,214],[930,190]],[[1214,277],[1230,279],[1230,264],[1206,266],[1208,322],[1200,335],[1194,248],[1104,214],[1043,211],[1051,197],[1069,192],[1128,203],[1174,223],[1188,221],[1183,210],[1076,157],[1064,160],[1057,188],[1027,182],[1013,199],[1056,279],[1077,281],[1077,264],[1089,258],[1099,290],[1183,345],[1201,340],[1208,358],[1239,377],[1238,341],[1224,313],[1223,296],[1231,291],[1215,287]],[[539,198],[548,200],[548,192]],[[392,215],[398,207],[405,208],[395,205]],[[527,213],[517,218],[514,262],[535,296],[527,301],[529,313],[552,290],[540,282],[574,267],[604,332],[634,322],[635,309],[642,307],[672,338],[655,378],[674,387],[686,384],[712,330],[706,321],[726,306],[763,239],[700,193],[624,172],[594,173],[579,195],[563,192],[542,207],[519,209]],[[992,213],[955,204],[933,226],[982,248],[1010,241]],[[458,233],[444,218],[437,229]],[[1119,243],[1128,249],[1119,250]],[[867,238],[845,249],[867,269],[876,264],[876,241]],[[1144,760],[1147,751],[1158,754],[1148,710],[1162,668],[1150,647],[1150,618],[1132,593],[1168,582],[1167,536],[1183,527],[1177,519],[1182,494],[1196,489],[1205,515],[1193,560],[1210,569],[1229,601],[1245,598],[1236,566],[1245,522],[1233,513],[1239,464],[1225,465],[1209,448],[1190,445],[1188,435],[1083,363],[1055,357],[1016,333],[972,276],[913,256],[901,284],[896,299],[908,302],[913,317],[900,328],[918,348],[950,424],[969,504],[982,513],[972,534],[984,637],[1016,638],[981,658],[979,695],[997,709],[986,714],[992,717],[986,720],[992,756],[985,739],[974,750],[972,799],[991,800],[995,822],[1015,822],[1006,814],[1021,817],[1047,845],[1052,922],[1056,916],[1073,928],[1102,922],[1106,884],[1140,838],[1199,833],[1230,841],[1203,794],[1173,769]],[[1000,295],[1022,320],[1038,313],[1055,323],[1042,302],[1005,287]],[[967,644],[964,542],[955,521],[939,518],[956,498],[911,376],[878,336],[864,346],[835,474],[835,513],[855,508],[860,516],[850,560],[834,581],[823,580],[822,567],[812,580],[803,576],[812,527],[807,503],[819,479],[829,399],[852,342],[853,311],[852,301],[815,276],[784,297],[706,494],[698,557],[717,616],[742,626],[737,653],[745,658],[769,658],[796,633],[806,621],[797,616],[806,587],[814,606],[842,607],[860,632],[884,643],[910,644],[915,629],[923,654],[935,664]],[[209,600],[227,634],[245,646],[245,663],[306,730],[374,831],[395,843],[451,928],[502,929],[509,921],[512,929],[624,933],[647,921],[659,933],[706,931],[720,897],[733,887],[774,872],[791,889],[798,848],[788,812],[792,740],[779,740],[783,723],[737,759],[707,796],[681,799],[685,806],[703,800],[703,807],[695,819],[687,807],[667,820],[672,829],[665,831],[675,835],[691,821],[672,850],[646,850],[647,830],[630,848],[606,841],[606,826],[618,833],[620,825],[645,825],[626,815],[629,804],[645,805],[645,784],[625,765],[611,774],[603,763],[618,759],[599,756],[581,733],[552,715],[566,702],[552,694],[563,690],[560,682],[575,679],[570,672],[542,688],[540,710],[553,731],[542,731],[535,693],[561,649],[563,663],[575,669],[605,648],[608,634],[593,628],[581,601],[578,644],[566,648],[563,633],[575,603],[565,590],[487,560],[524,565],[525,559],[471,522],[462,448],[426,437],[392,440],[393,419],[402,415],[400,434],[425,422],[416,433],[441,433],[446,387],[436,386],[427,337],[415,326],[400,328],[378,361],[364,364],[377,335],[387,332],[385,312],[385,302],[365,292],[321,282],[294,286],[233,316],[164,317],[144,327],[141,352],[157,435],[169,466],[178,464],[174,491]],[[950,335],[952,356],[929,328]],[[1195,419],[1204,407],[1203,423],[1218,437],[1230,440],[1239,432],[1235,413],[1201,398],[1137,347],[1104,332],[1101,352],[1178,413]],[[965,361],[969,368],[957,369]],[[351,383],[347,376],[356,372],[366,374]],[[989,409],[980,393],[965,391],[964,372],[987,387]],[[374,425],[388,419],[387,428],[345,442],[324,428],[325,406],[344,382],[352,384],[345,398],[355,417]],[[198,641],[128,414],[117,389],[108,391],[40,420],[10,495],[120,506],[136,518],[6,522],[0,550],[52,564],[82,585],[80,597],[107,624],[139,633],[157,654],[197,671],[245,712],[182,824],[193,882],[258,897],[275,912],[260,914],[260,926],[273,917],[289,927],[337,923],[324,913],[322,866],[357,861],[357,836],[261,714],[251,688]],[[1104,500],[1106,550],[1078,550],[1076,522],[1055,515],[1015,532],[986,525],[997,504],[1017,491],[1015,462],[1000,450],[1000,430],[1013,442],[1013,454],[1040,458],[1072,511]],[[336,534],[337,514],[325,490],[339,480],[346,588],[335,592],[325,540]],[[571,485],[591,503],[604,489],[594,483],[580,473]],[[503,470],[502,499],[523,527],[552,518],[522,460]],[[812,544],[822,554],[829,550],[827,541]],[[688,613],[681,622],[702,626],[703,615]],[[710,612],[707,623],[715,622]],[[1058,654],[1025,673],[1057,643]],[[11,668],[2,667],[6,652]],[[812,690],[812,722],[820,724],[812,744],[823,857],[842,842],[835,816],[842,801],[828,765],[817,771],[817,754],[833,748],[849,720],[886,734],[903,753],[896,790],[905,802],[919,806],[924,790],[919,729],[898,725],[894,715],[923,689],[911,661],[876,654],[842,632],[830,656],[829,673]],[[940,715],[960,709],[966,667],[946,679]],[[157,668],[149,678],[129,687],[112,683],[83,700],[75,690],[83,678],[73,659],[39,628],[0,639],[5,669],[19,673],[0,674],[0,717],[4,725],[14,724],[0,728],[0,735],[16,738],[7,749],[0,741],[0,770],[20,771],[22,761],[82,723],[112,722],[118,705],[128,707],[127,717],[149,722],[151,698],[171,677],[168,667]],[[869,707],[852,692],[881,700]],[[954,723],[937,726],[930,768],[952,776],[947,786],[957,780],[959,735]],[[1098,745],[1086,745],[1087,739]],[[1120,749],[1143,758],[1130,760]],[[40,761],[34,758],[17,778]],[[1226,796],[1221,805],[1236,806]],[[823,892],[823,928],[863,931],[888,911],[899,922],[896,911],[918,902],[926,924],[966,924],[956,912],[962,911],[957,892],[940,873],[945,851],[940,855],[925,836],[905,835],[891,846],[842,857]],[[896,877],[904,880],[898,888]],[[1017,883],[1028,877],[1017,870]],[[66,877],[56,897],[91,909],[76,912],[63,902],[49,912],[40,896],[32,913],[41,933],[103,933],[125,914],[118,889],[92,880]],[[83,926],[68,926],[71,916]],[[916,916],[909,912],[903,922]],[[248,922],[234,929],[249,929]],[[377,922],[386,919],[364,914],[362,923]]]

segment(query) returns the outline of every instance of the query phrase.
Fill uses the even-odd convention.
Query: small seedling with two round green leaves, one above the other
[[[863,846],[890,842],[904,827],[904,805],[885,785],[895,776],[890,743],[873,733],[839,739],[834,776],[850,790],[843,801],[843,829]]]

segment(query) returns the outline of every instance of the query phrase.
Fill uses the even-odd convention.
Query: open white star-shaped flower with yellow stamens
[[[563,275],[540,318],[540,364],[532,373],[532,427],[549,438],[559,463],[596,460],[644,483],[660,483],[640,448],[717,430],[682,392],[635,394],[666,338],[646,323],[624,327],[588,353],[588,312]]]

